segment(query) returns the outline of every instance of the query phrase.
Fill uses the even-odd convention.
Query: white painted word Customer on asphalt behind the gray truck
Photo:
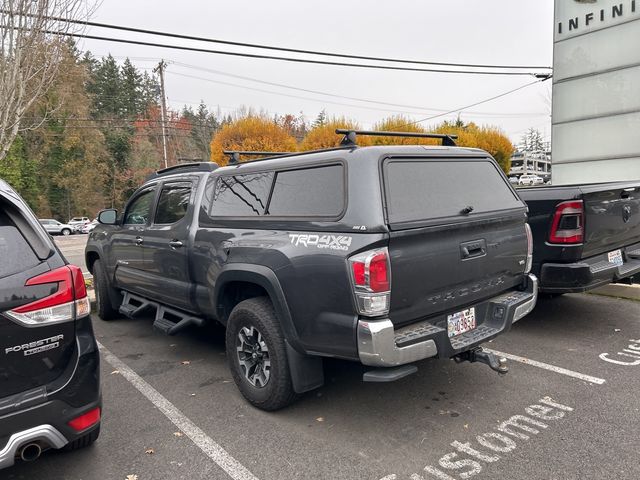
[[[501,422],[495,431],[476,436],[477,443],[454,441],[455,451],[443,455],[438,466],[427,465],[422,474],[414,473],[411,480],[467,479],[482,473],[486,465],[499,461],[505,454],[515,450],[519,442],[527,441],[532,435],[538,435],[550,424],[560,420],[573,408],[544,397],[534,405],[526,407],[527,415],[513,415]],[[397,480],[396,474],[387,475],[381,480]]]

